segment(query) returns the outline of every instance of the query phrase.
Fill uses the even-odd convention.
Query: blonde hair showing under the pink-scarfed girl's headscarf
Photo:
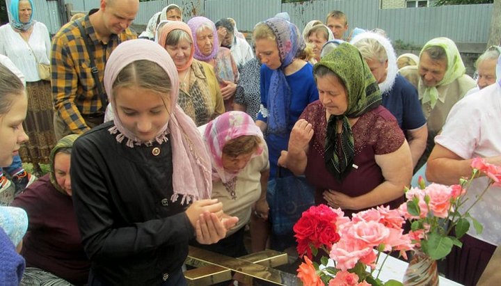
[[[167,72],[157,63],[148,60],[129,63],[113,82],[113,90],[129,86],[152,90],[159,95],[170,94],[172,90]]]

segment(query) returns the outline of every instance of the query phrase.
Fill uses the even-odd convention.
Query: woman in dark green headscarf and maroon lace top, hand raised
[[[279,164],[306,175],[317,204],[348,215],[398,207],[411,180],[411,152],[360,52],[342,43],[314,74],[320,100],[301,114]]]

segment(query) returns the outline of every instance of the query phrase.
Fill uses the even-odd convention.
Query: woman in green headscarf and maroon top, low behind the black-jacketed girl
[[[74,214],[70,178],[71,151],[78,135],[62,138],[49,155],[50,173],[17,196],[12,205],[29,218],[23,239],[23,285],[84,285],[90,264]]]

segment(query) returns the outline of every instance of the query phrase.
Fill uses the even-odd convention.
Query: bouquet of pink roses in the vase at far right
[[[459,239],[470,229],[470,222],[477,233],[482,232],[482,225],[470,216],[469,211],[489,187],[501,186],[501,167],[486,164],[480,158],[473,159],[471,166],[471,177],[452,186],[424,186],[420,178],[420,186],[407,190],[407,201],[399,207],[401,214],[412,223],[409,235],[413,244],[432,260],[447,256],[454,245],[461,247]],[[466,191],[480,173],[487,175],[489,182],[475,201],[469,202]]]

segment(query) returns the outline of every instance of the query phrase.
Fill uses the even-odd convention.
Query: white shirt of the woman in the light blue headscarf
[[[40,63],[50,64],[51,42],[47,26],[41,22],[33,25],[29,45]],[[10,24],[0,26],[0,54],[8,56],[10,61],[24,74],[26,81],[40,81],[37,61],[33,52],[21,35]]]

